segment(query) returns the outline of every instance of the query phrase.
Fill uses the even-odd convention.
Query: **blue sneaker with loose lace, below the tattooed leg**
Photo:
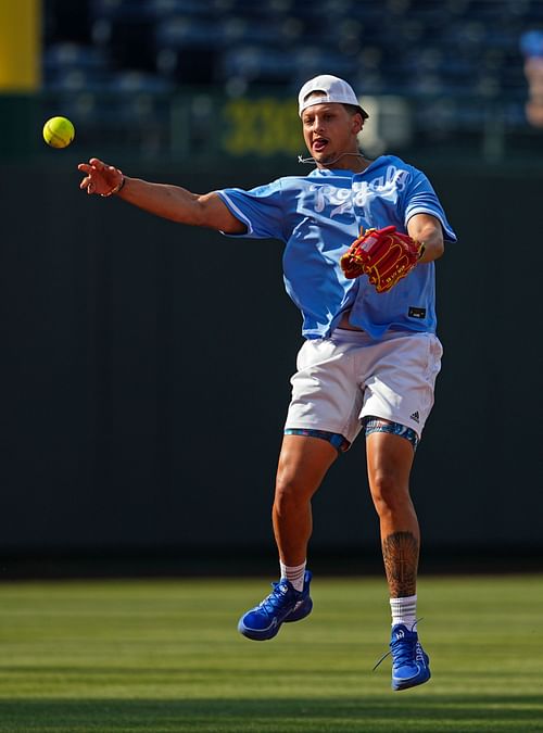
[[[390,653],[392,690],[407,690],[428,682],[431,677],[429,659],[416,631],[409,631],[403,623],[392,627]]]

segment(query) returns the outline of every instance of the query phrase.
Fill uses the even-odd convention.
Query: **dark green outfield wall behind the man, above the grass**
[[[0,548],[268,547],[300,344],[281,245],[87,198],[51,160],[1,172]],[[117,163],[197,191],[280,173]],[[543,174],[426,170],[460,238],[414,470],[426,543],[541,549]],[[314,507],[314,547],[375,542],[362,442]]]

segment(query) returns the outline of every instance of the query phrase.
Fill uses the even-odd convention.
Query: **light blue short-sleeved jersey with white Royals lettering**
[[[247,226],[236,235],[279,239],[285,286],[303,316],[307,339],[327,337],[343,312],[350,323],[379,339],[388,329],[435,331],[433,262],[415,267],[389,292],[377,293],[367,277],[348,280],[340,257],[364,230],[393,224],[406,232],[415,214],[431,214],[444,239],[456,241],[428,178],[394,155],[382,155],[363,173],[315,168],[250,191],[217,191]]]

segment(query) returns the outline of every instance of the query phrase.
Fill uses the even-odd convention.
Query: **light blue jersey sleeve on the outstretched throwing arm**
[[[230,213],[247,227],[245,232],[227,235],[228,237],[285,240],[285,212],[280,179],[265,186],[257,186],[250,191],[225,188],[217,193]]]

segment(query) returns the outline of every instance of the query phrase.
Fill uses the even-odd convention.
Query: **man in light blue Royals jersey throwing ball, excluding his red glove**
[[[404,690],[430,679],[415,630],[420,536],[409,473],[442,353],[433,261],[443,254],[443,240],[456,237],[421,172],[395,156],[371,162],[359,152],[368,115],[346,81],[311,79],[300,91],[299,113],[316,164],[307,176],[199,195],[125,177],[91,159],[78,166],[80,188],[182,224],[286,243],[285,283],[302,312],[305,342],[291,380],[273,506],[280,580],[238,628],[264,641],[311,612],[311,500],[363,430],[390,589],[392,687]],[[424,254],[391,291],[378,293],[366,277],[346,279],[340,257],[361,228],[389,225],[424,243]]]

